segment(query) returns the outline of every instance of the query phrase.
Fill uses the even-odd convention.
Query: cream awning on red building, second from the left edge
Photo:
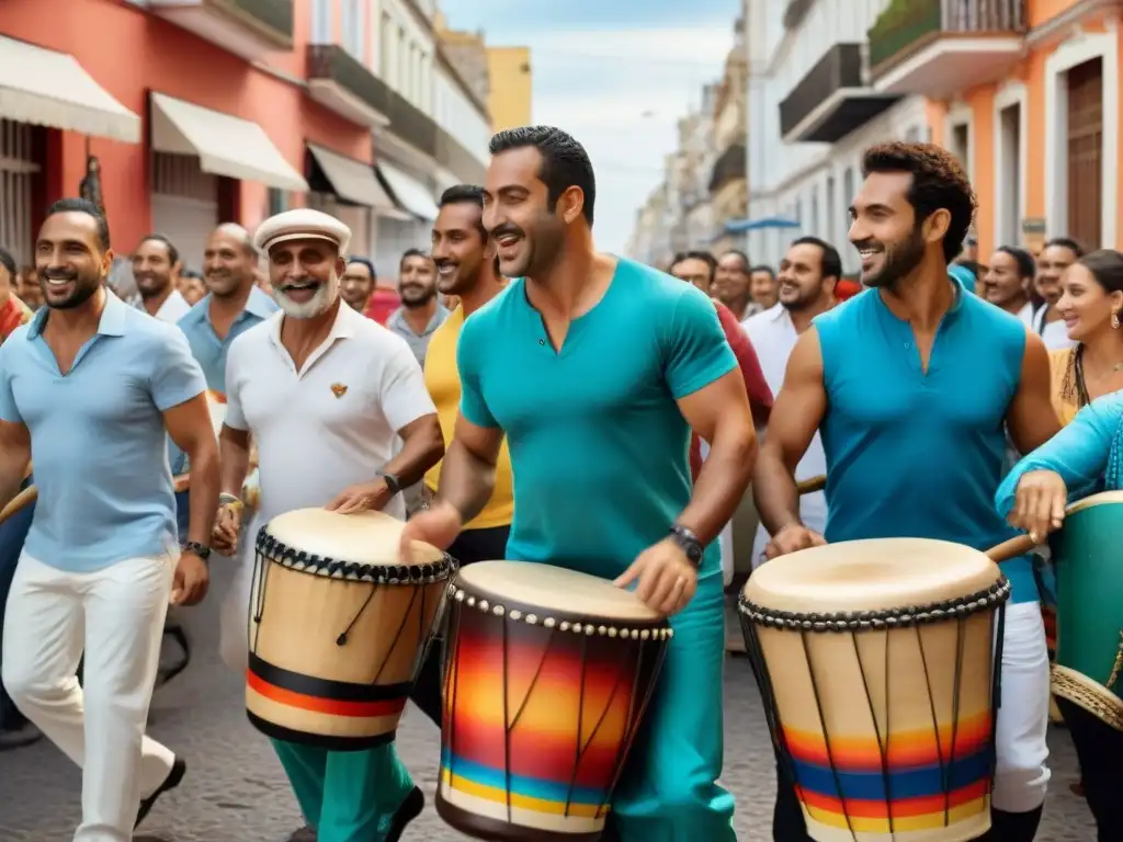
[[[277,190],[308,192],[308,182],[256,122],[155,92],[152,148],[198,155],[204,173],[256,181]]]

